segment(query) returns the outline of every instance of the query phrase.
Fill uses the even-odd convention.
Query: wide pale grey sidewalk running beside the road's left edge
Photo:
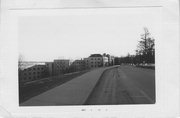
[[[83,105],[89,97],[104,70],[99,68],[85,73],[63,85],[44,92],[20,106]]]

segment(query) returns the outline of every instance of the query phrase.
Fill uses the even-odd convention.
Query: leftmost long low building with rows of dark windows
[[[19,70],[19,81],[28,82],[42,79],[48,76],[46,65],[33,65]]]

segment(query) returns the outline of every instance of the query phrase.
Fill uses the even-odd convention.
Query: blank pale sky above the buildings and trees
[[[94,53],[126,56],[135,54],[143,27],[155,40],[160,35],[159,8],[78,11],[20,17],[19,54],[25,61],[75,60]]]

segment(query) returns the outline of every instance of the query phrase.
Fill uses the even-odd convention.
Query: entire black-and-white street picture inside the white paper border
[[[19,17],[19,106],[156,104],[160,10],[76,11]]]

